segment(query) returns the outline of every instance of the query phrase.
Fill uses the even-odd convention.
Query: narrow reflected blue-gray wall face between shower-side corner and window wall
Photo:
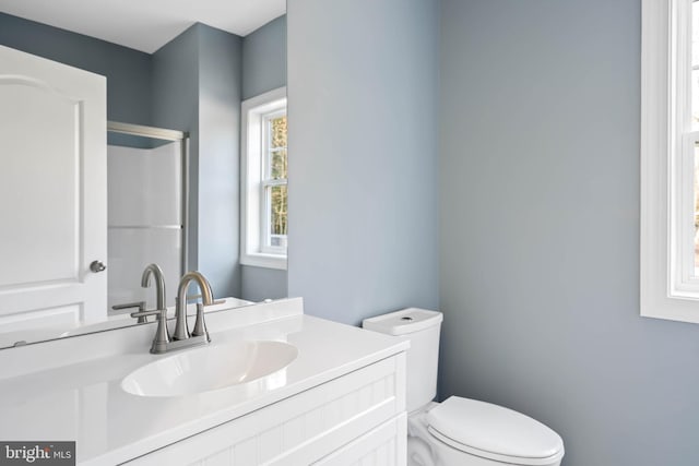
[[[241,296],[239,128],[242,38],[203,24],[198,27],[199,267],[210,278],[216,296]]]

